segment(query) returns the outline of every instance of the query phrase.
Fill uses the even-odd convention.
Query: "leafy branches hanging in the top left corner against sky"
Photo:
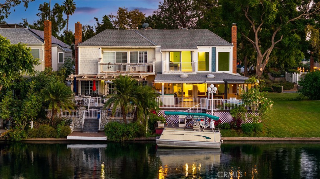
[[[10,9],[12,7],[16,7],[19,4],[23,3],[23,6],[27,9],[28,8],[28,3],[32,2],[34,0],[5,0],[4,3],[1,1],[0,8],[1,8],[1,16],[0,16],[0,21],[1,23],[4,22],[4,18],[8,18],[8,16],[11,14]],[[15,10],[13,10],[15,11]]]

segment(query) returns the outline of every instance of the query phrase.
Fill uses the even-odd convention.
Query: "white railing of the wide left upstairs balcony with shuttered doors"
[[[155,74],[155,63],[99,63],[100,73],[149,73]]]

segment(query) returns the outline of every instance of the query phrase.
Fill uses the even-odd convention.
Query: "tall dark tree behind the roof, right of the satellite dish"
[[[166,29],[195,28],[199,17],[196,1],[188,0],[159,2],[154,14],[161,19],[161,25],[158,25]]]

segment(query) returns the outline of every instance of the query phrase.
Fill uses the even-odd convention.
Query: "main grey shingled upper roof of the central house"
[[[104,30],[79,46],[161,46],[161,49],[196,49],[197,46],[232,46],[206,29]]]

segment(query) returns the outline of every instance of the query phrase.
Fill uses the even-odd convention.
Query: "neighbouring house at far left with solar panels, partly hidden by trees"
[[[39,31],[20,25],[1,24],[0,34],[10,40],[11,44],[20,42],[31,48],[33,57],[40,59],[35,70],[43,71],[45,67],[52,67],[57,71],[63,65],[64,59],[72,58],[72,50],[51,35],[51,21],[44,21],[44,25],[44,31]]]

